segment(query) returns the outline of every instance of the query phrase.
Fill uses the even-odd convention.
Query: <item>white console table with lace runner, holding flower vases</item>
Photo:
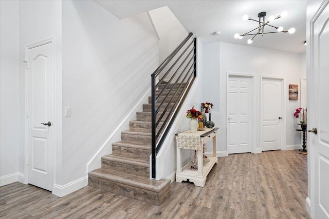
[[[197,131],[191,133],[190,130],[176,134],[177,143],[177,171],[176,182],[189,180],[195,186],[204,187],[207,180],[207,175],[211,168],[218,163],[216,156],[216,132],[218,128],[206,128],[205,131]],[[208,156],[210,162],[204,165],[203,161],[203,145],[212,139],[212,156]],[[193,165],[189,162],[184,167],[181,167],[181,149],[197,150],[197,170],[192,170]]]

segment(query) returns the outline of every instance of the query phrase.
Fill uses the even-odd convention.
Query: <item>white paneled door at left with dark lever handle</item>
[[[27,47],[27,183],[52,190],[53,42]],[[43,123],[43,124],[42,124]]]

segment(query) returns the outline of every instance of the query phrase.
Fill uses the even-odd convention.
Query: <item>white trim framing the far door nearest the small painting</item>
[[[281,77],[281,76],[272,76],[272,75],[263,75],[261,74],[261,79],[260,79],[260,115],[263,115],[262,111],[262,98],[263,98],[263,92],[262,92],[262,84],[263,84],[263,79],[280,79],[281,80],[281,85],[282,85],[282,109],[281,109],[281,115],[282,115],[282,120],[281,120],[281,150],[286,150],[286,99],[288,98],[287,96],[287,88],[286,88],[286,78]],[[263,128],[261,125],[262,118],[260,119],[260,139],[259,139],[259,144],[260,147],[262,147],[262,136],[263,136]],[[261,148],[262,150],[262,148]]]

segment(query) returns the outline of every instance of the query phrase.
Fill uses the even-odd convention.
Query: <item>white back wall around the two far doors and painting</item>
[[[226,82],[227,72],[255,75],[255,101],[260,102],[260,75],[281,76],[286,78],[286,86],[300,84],[300,77],[305,77],[305,53],[289,53],[277,50],[241,46],[228,43],[204,45],[204,81],[203,101],[212,102],[212,121],[219,127],[217,134],[217,152],[227,151],[226,141]],[[299,145],[298,127],[293,116],[299,101],[286,99],[286,145]],[[259,113],[257,107],[256,114]],[[260,118],[256,118],[254,130],[255,144],[260,147]],[[209,147],[208,147],[209,148]]]

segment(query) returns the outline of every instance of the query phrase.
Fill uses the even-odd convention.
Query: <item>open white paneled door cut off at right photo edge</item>
[[[310,25],[310,91],[308,152],[312,218],[329,218],[329,1],[324,1]],[[317,129],[317,133],[315,130]],[[312,133],[313,132],[313,133]]]

